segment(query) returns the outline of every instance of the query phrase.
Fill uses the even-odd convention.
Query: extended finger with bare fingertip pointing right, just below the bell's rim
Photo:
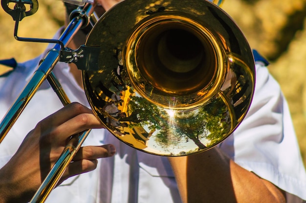
[[[115,147],[110,144],[103,146],[86,146],[79,149],[73,158],[73,161],[79,161],[82,159],[93,160],[98,158],[106,158],[113,156],[115,152]]]

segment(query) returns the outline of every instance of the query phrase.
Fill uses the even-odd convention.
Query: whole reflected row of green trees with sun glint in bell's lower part
[[[204,106],[193,110],[165,110],[145,98],[132,96],[129,116],[122,121],[130,127],[144,127],[154,132],[154,141],[160,147],[181,148],[193,142],[204,149],[223,139],[230,130],[230,117],[220,97],[211,99]]]

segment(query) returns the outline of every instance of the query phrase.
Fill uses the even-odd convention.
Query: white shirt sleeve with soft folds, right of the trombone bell
[[[261,62],[250,109],[220,148],[243,168],[306,200],[306,172],[288,105]]]

